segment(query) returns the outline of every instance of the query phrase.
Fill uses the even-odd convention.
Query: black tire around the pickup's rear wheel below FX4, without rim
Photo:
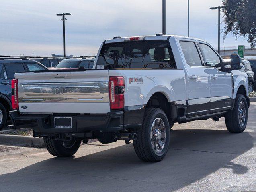
[[[154,152],[151,140],[152,124],[160,118],[165,126],[165,144],[162,151],[159,153]],[[162,136],[161,136],[162,137]],[[133,147],[137,156],[145,162],[158,162],[161,161],[167,153],[170,142],[170,127],[166,114],[160,108],[146,108],[143,125],[137,130],[137,140],[133,141]]]

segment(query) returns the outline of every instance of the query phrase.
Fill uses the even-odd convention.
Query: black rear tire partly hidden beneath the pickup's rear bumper
[[[80,139],[62,142],[52,140],[51,137],[44,137],[43,141],[48,152],[56,157],[69,157],[74,155],[81,144]]]

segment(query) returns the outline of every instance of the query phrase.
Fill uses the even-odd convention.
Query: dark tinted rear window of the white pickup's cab
[[[143,40],[104,44],[96,68],[175,69],[177,67],[167,40]]]

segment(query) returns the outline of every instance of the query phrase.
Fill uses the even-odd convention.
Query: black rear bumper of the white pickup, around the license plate
[[[82,133],[88,131],[116,132],[123,130],[124,112],[109,112],[106,115],[39,115],[9,112],[15,129],[29,128],[41,133]],[[54,117],[72,117],[72,128],[55,128]]]

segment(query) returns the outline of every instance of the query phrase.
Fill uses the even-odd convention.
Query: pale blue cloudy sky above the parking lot
[[[190,0],[190,36],[214,48],[218,11],[209,7],[220,5],[221,0]],[[63,12],[71,13],[65,22],[66,55],[94,55],[114,36],[162,32],[162,0],[1,0],[0,55],[63,54],[61,16],[56,16]],[[166,0],[166,34],[187,36],[187,0]],[[225,38],[226,49],[238,45],[249,44],[232,34]]]

